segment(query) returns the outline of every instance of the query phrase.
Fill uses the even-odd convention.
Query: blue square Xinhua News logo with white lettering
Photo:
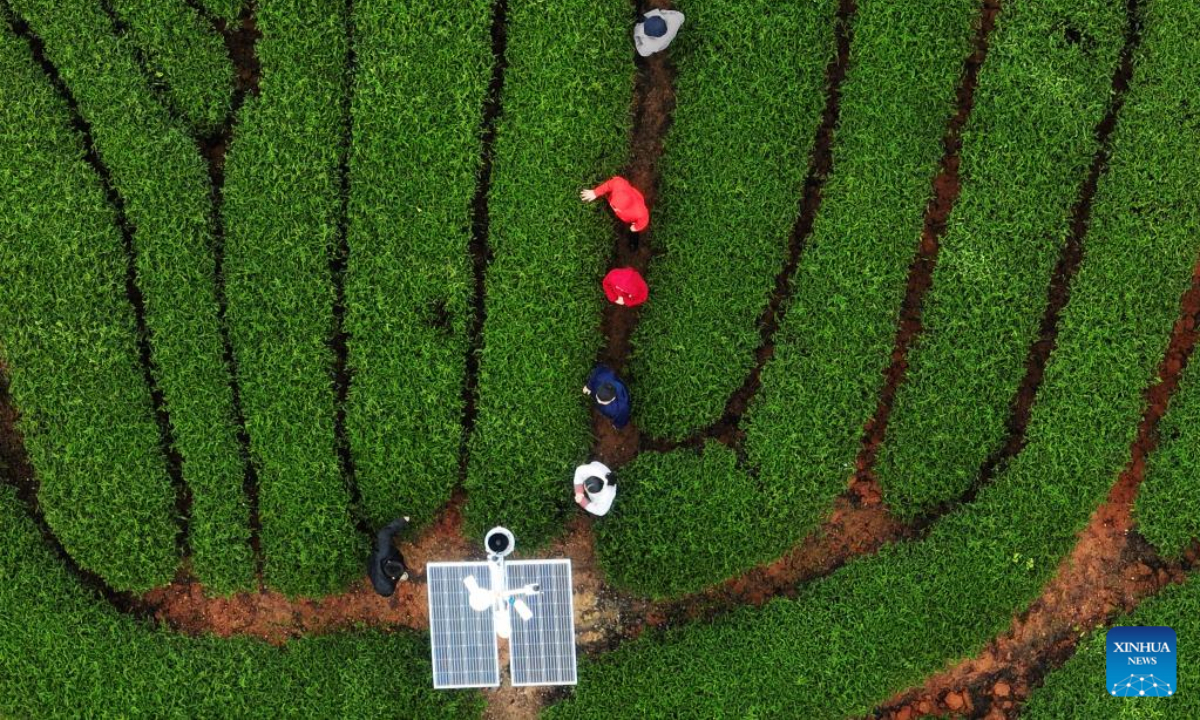
[[[1175,630],[1112,628],[1105,638],[1105,689],[1116,697],[1170,697],[1175,684]]]

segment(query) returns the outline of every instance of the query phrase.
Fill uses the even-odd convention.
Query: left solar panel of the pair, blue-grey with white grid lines
[[[492,612],[470,608],[463,580],[472,575],[491,589],[487,563],[430,563],[425,566],[430,593],[430,643],[433,646],[433,686],[496,688],[500,658]]]

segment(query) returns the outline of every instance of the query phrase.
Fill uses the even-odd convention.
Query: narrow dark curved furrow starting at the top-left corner
[[[74,94],[71,92],[71,89],[62,79],[59,73],[59,68],[50,62],[49,58],[47,58],[46,43],[42,38],[34,34],[29,23],[18,17],[7,4],[4,6],[4,14],[8,22],[10,29],[18,37],[29,43],[29,49],[34,55],[34,60],[38,66],[41,66],[42,72],[46,73],[46,78],[54,88],[54,91],[67,106],[67,112],[71,115],[71,124],[83,139],[84,161],[92,168],[96,176],[100,178],[101,187],[104,191],[104,196],[108,199],[109,205],[113,208],[116,226],[121,232],[121,240],[125,247],[126,258],[125,294],[128,298],[130,305],[133,307],[133,320],[137,330],[138,365],[142,368],[142,376],[145,380],[146,388],[150,390],[154,415],[158,425],[158,444],[167,462],[167,475],[170,478],[170,482],[175,492],[175,514],[180,518],[179,528],[175,534],[175,542],[180,553],[186,554],[187,526],[191,518],[192,492],[187,487],[187,484],[184,482],[184,458],[175,449],[175,437],[172,431],[170,415],[167,412],[167,403],[162,389],[158,388],[158,380],[155,378],[154,356],[150,349],[150,329],[146,325],[145,298],[142,295],[142,288],[138,287],[137,245],[133,241],[134,228],[125,212],[125,198],[120,192],[118,192],[108,166],[104,164],[104,161],[100,157],[100,152],[96,149],[96,140],[91,131],[91,124],[84,120],[83,114],[79,112],[79,103],[76,100]]]

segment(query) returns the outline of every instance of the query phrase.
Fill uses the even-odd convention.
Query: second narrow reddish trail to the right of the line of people
[[[962,150],[962,128],[966,127],[974,109],[974,92],[979,85],[979,68],[988,58],[988,41],[996,26],[1000,14],[1000,0],[985,0],[979,17],[979,26],[972,41],[972,50],[962,67],[962,80],[956,92],[958,110],[946,126],[942,138],[944,155],[941,169],[934,176],[934,194],[925,208],[925,224],[920,233],[920,245],[917,257],[908,269],[908,283],[900,308],[900,324],[896,330],[895,346],[892,350],[892,364],[883,372],[883,386],[880,391],[880,404],[875,415],[866,422],[863,433],[863,446],[856,460],[856,482],[865,485],[864,492],[878,494],[878,480],[875,478],[875,458],[888,430],[888,418],[896,390],[904,383],[908,368],[908,348],[922,332],[922,306],[925,294],[934,284],[934,268],[937,265],[937,251],[946,234],[946,223],[962,191],[959,178],[959,163]]]

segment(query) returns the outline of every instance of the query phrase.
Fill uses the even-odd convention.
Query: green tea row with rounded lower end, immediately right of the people
[[[630,374],[638,426],[682,438],[721,416],[755,362],[824,107],[838,2],[674,7],[686,14],[670,50],[677,108],[648,230],[661,254]]]

